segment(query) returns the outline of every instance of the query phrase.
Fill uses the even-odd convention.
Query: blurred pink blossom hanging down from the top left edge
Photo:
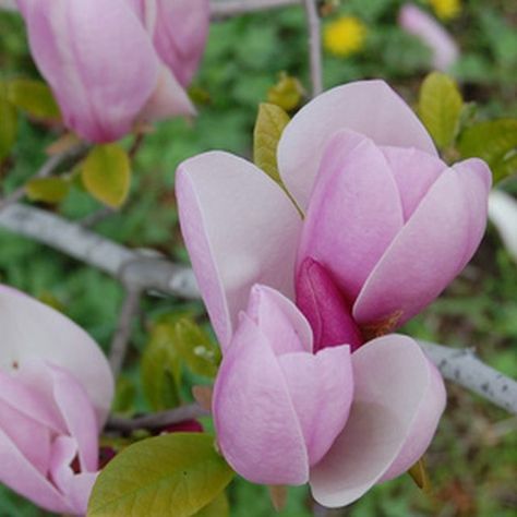
[[[134,123],[195,112],[184,87],[208,31],[207,0],[17,0],[31,51],[86,140],[109,142]]]

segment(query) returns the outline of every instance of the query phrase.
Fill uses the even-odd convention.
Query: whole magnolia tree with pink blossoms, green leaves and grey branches
[[[469,263],[489,200],[517,254],[515,202],[491,193],[515,172],[515,120],[466,123],[458,87],[438,72],[420,88],[418,116],[381,80],[322,93],[321,16],[335,2],[3,3],[22,16],[45,83],[0,84],[0,159],[9,173],[19,109],[60,136],[1,200],[0,225],[115,276],[127,298],[106,358],[60,312],[0,286],[2,483],[58,514],[225,516],[224,489],[238,474],[269,485],[277,509],[288,486],[309,483],[324,515],[405,472],[426,486],[444,377],[517,412],[517,383],[471,350],[395,333]],[[187,88],[211,17],[288,4],[306,14],[314,98],[299,108],[303,88],[284,76],[277,101],[260,106],[254,163],[212,151],[178,167],[192,269],[20,203],[56,204],[79,178],[119,208],[149,124],[196,115]],[[408,4],[399,23],[437,69],[454,64],[453,38],[428,14]],[[335,33],[325,38],[339,51]],[[127,135],[129,149],[117,143]],[[218,347],[193,320],[158,325],[141,358],[155,411],[110,416],[149,291],[201,297]],[[193,386],[189,405],[178,404],[179,357],[213,380]]]

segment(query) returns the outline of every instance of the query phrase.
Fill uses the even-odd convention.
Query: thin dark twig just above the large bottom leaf
[[[136,417],[133,419],[112,416],[106,424],[107,431],[118,431],[122,433],[131,433],[140,429],[156,430],[172,425],[175,423],[184,422],[185,420],[205,417],[208,411],[197,404],[189,406],[180,406],[179,408],[160,411],[145,417]]]

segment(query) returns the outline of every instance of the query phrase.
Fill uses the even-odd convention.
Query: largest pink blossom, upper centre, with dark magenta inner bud
[[[286,127],[277,161],[290,196],[223,152],[178,169],[183,237],[224,350],[254,284],[297,301],[316,350],[356,349],[431,303],[484,232],[485,163],[444,164],[382,81],[350,83],[309,103]],[[330,310],[329,297],[339,299]]]

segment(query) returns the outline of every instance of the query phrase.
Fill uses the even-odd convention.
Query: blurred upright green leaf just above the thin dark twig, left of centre
[[[142,385],[155,411],[173,408],[180,402],[181,358],[175,341],[175,325],[158,323],[142,354]]]

